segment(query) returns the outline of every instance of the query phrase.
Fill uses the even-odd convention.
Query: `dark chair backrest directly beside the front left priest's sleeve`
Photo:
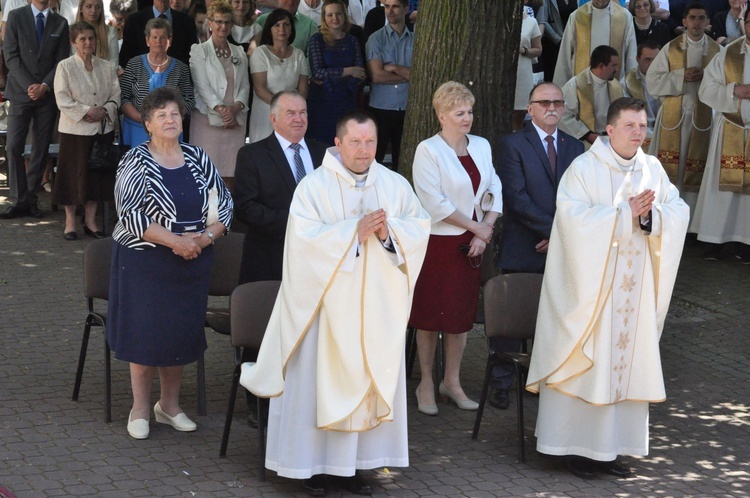
[[[234,347],[260,349],[281,282],[268,280],[238,286],[229,298],[231,342]]]

